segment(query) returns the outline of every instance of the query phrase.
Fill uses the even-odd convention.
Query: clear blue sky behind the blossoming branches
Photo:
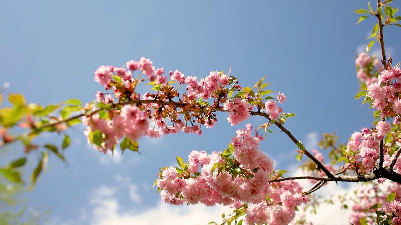
[[[286,123],[295,137],[304,142],[309,137],[314,147],[322,133],[336,131],[345,142],[372,121],[372,111],[354,100],[359,86],[354,57],[357,48],[369,42],[366,39],[375,22],[368,18],[356,25],[358,15],[352,11],[366,4],[3,0],[0,82],[10,82],[7,91],[24,94],[28,102],[50,104],[69,98],[89,102],[97,90],[103,90],[93,81],[93,72],[102,64],[120,66],[145,56],[166,71],[178,69],[198,77],[232,66],[232,75],[241,79],[243,87],[267,75],[271,89],[286,94],[284,111],[298,114]],[[385,29],[386,47],[395,62],[400,61],[396,38],[400,34],[400,28]],[[76,127],[67,131],[73,137],[66,150],[69,167],[52,157],[48,171],[26,197],[32,205],[51,208],[54,224],[113,224],[108,219],[123,217],[132,223],[148,218],[146,213],[173,212],[174,207],[160,206],[159,195],[150,191],[158,168],[174,164],[175,156],[185,158],[195,149],[223,150],[244,125],[231,127],[226,117],[219,114],[215,129],[203,129],[202,136],[142,139],[142,155],[127,152],[122,157],[96,152],[86,144],[84,127]],[[264,123],[260,118],[250,122]],[[38,143],[60,141],[52,135],[38,139]],[[261,147],[276,160],[276,169],[296,163],[296,147],[283,133],[268,135]],[[22,149],[15,146],[15,151]],[[114,204],[116,213],[108,215],[112,210],[102,204]],[[198,209],[191,207],[192,213]],[[102,210],[105,214],[99,215],[108,219],[96,217]],[[188,218],[187,224],[197,224],[202,217]]]

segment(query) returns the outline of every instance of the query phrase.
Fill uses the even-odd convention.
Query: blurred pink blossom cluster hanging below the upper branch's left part
[[[89,107],[89,105],[87,105]],[[94,113],[90,117],[83,117],[82,123],[87,126],[84,134],[88,138],[91,132],[96,130],[102,133],[101,146],[93,145],[99,151],[106,153],[114,145],[119,143],[119,139],[127,136],[132,141],[137,141],[145,134],[149,124],[143,112],[134,105],[124,105],[119,112],[115,112],[109,120],[100,118],[99,113]]]

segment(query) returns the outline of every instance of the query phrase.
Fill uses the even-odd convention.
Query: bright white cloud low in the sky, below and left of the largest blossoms
[[[82,210],[81,216],[75,221],[63,223],[69,224],[90,224],[90,225],[204,225],[211,221],[221,222],[221,214],[232,211],[229,207],[204,205],[166,205],[160,200],[155,207],[144,209],[140,205],[138,187],[130,184],[130,178],[117,175],[115,177],[121,185],[116,187],[101,186],[90,195],[89,203],[92,206],[89,210]],[[121,207],[115,193],[121,193],[121,187],[128,186],[130,199],[134,204],[130,207]]]

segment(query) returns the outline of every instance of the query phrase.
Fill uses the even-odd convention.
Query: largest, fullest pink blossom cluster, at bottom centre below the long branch
[[[173,167],[163,170],[157,181],[163,201],[173,205],[203,203],[236,208],[247,205],[247,224],[284,225],[292,221],[294,208],[307,198],[300,194],[302,188],[295,181],[275,183],[275,187],[280,188],[269,184],[273,162],[259,151],[260,137],[252,135],[251,125],[246,127],[237,130],[232,138],[234,165],[227,165],[229,161],[221,152],[192,151],[186,170]],[[215,165],[237,167],[242,175],[225,169],[219,173]],[[267,202],[266,197],[271,201]]]

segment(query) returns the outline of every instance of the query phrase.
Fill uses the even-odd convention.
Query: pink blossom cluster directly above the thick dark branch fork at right
[[[362,163],[362,171],[372,171],[375,163],[379,157],[380,141],[386,133],[391,131],[390,125],[385,121],[379,121],[376,124],[376,129],[371,131],[368,128],[363,128],[360,132],[355,132],[351,135],[350,140],[347,143],[347,149],[349,155],[346,156],[349,159],[344,167],[353,168],[353,163]],[[360,161],[359,161],[360,159]],[[384,166],[389,165],[390,157],[388,153],[385,155]]]

